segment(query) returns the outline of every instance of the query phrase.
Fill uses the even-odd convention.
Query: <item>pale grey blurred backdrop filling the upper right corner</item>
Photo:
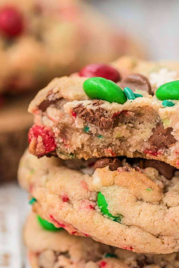
[[[149,48],[150,58],[179,60],[178,0],[89,2],[105,13],[116,25],[141,36]]]

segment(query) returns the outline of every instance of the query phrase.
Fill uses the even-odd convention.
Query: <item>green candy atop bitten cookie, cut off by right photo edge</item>
[[[161,85],[155,95],[160,101],[179,100],[179,80]]]

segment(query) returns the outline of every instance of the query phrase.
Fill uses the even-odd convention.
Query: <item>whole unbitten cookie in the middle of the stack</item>
[[[26,151],[18,178],[35,198],[33,210],[55,227],[134,252],[166,254],[179,251],[179,180],[178,171],[167,179],[156,164],[37,159]]]

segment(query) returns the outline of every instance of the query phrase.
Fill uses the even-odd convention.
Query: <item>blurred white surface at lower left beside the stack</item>
[[[17,183],[0,186],[0,267],[27,268],[22,226],[29,209],[27,194]]]

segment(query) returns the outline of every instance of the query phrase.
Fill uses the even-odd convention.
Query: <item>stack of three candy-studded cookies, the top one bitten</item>
[[[179,266],[178,70],[123,57],[32,100],[18,172],[32,267]]]

